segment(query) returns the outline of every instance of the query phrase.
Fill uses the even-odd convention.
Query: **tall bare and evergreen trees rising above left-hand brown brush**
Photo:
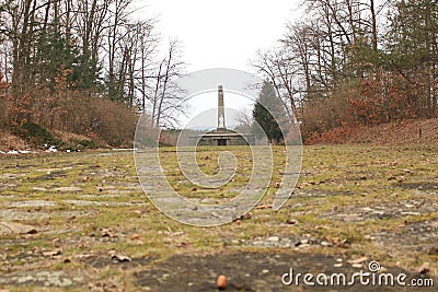
[[[182,74],[181,48],[171,42],[158,57],[153,19],[132,19],[131,0],[4,0],[0,2],[0,70],[12,82],[12,96],[32,89],[81,90],[128,107],[153,104],[154,126],[175,122],[183,110],[174,82]],[[159,61],[157,61],[159,59]],[[50,105],[66,94],[50,96]],[[37,96],[37,98],[42,100]]]

